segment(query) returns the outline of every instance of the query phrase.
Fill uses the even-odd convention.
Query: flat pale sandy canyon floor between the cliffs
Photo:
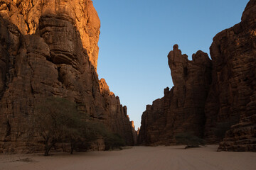
[[[217,146],[183,149],[176,147],[130,147],[122,151],[86,152],[73,155],[58,153],[0,154],[1,170],[255,170],[255,152],[216,152]]]

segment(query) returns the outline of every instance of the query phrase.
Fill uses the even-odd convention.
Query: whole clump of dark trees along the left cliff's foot
[[[124,146],[122,137],[90,118],[83,118],[74,102],[60,97],[45,98],[36,105],[30,129],[31,134],[43,138],[45,156],[57,142],[69,142],[70,154],[75,149],[87,149],[99,137],[104,137],[106,149]]]

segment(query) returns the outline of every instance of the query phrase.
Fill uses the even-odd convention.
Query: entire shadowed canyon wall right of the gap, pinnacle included
[[[256,1],[240,23],[215,35],[212,61],[201,57],[199,64],[196,55],[188,61],[174,45],[168,55],[174,87],[146,106],[138,142],[171,145],[175,134],[191,131],[208,143],[223,140],[219,150],[256,151]]]

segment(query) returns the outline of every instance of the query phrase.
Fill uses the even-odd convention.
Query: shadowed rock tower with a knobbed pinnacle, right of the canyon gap
[[[142,115],[138,142],[142,145],[171,145],[180,132],[203,136],[204,105],[210,87],[211,61],[202,51],[189,61],[181,55],[178,45],[168,55],[174,87],[164,89],[164,97],[157,99]]]

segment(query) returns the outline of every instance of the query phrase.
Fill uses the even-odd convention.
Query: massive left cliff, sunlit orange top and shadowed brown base
[[[26,140],[27,122],[48,96],[75,101],[134,145],[126,106],[97,77],[100,20],[92,1],[1,1],[0,15],[0,152],[38,149],[38,137]]]

